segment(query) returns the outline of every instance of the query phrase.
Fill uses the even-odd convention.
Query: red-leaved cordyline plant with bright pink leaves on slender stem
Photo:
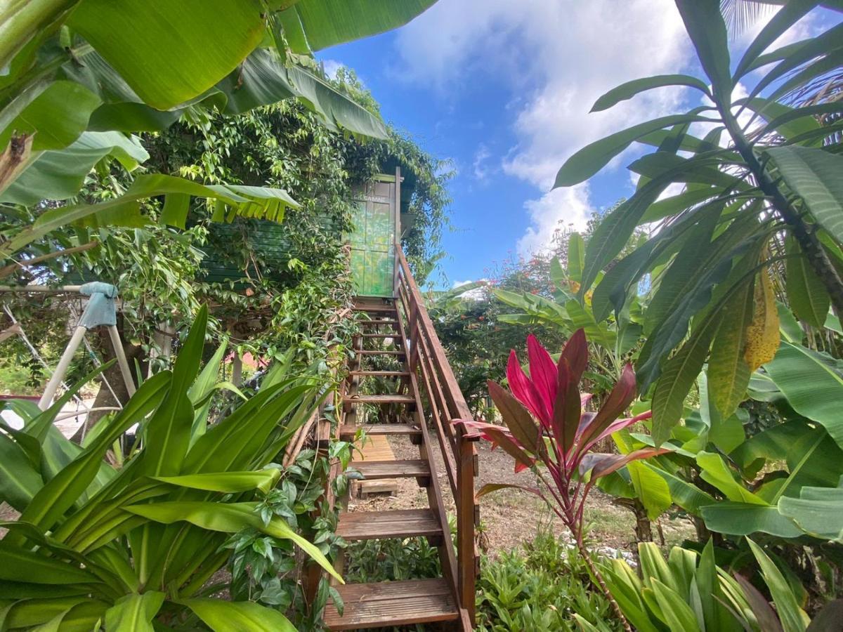
[[[596,586],[609,599],[626,629],[630,629],[583,544],[583,510],[588,492],[600,477],[636,459],[667,451],[646,447],[629,454],[590,452],[604,437],[648,419],[651,412],[621,417],[636,396],[635,372],[630,364],[624,367],[620,380],[597,412],[583,410],[591,399],[590,394],[581,394],[579,390],[588,366],[588,343],[583,329],[567,341],[559,362],[553,362],[534,335],[527,338],[527,352],[529,377],[521,369],[515,351],[509,354],[507,381],[512,393],[491,380],[488,383],[491,399],[506,427],[481,421],[456,423],[465,426],[468,437],[481,437],[492,442],[493,447],[502,447],[515,459],[516,472],[532,469],[545,489],[492,484],[485,485],[478,495],[516,487],[540,496],[571,530]]]

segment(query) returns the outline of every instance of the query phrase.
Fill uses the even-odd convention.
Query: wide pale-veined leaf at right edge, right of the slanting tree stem
[[[843,156],[796,146],[771,147],[766,153],[819,225],[843,242]]]

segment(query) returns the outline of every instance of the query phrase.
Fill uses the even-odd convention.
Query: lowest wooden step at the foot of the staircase
[[[345,611],[340,616],[333,603],[325,608],[325,625],[331,630],[459,619],[454,596],[443,578],[346,584],[336,586],[336,590],[345,603]]]

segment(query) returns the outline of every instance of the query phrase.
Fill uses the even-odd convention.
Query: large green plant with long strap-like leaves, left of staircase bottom
[[[62,402],[22,430],[4,426],[0,495],[20,517],[0,525],[3,629],[293,630],[276,610],[205,594],[228,560],[226,539],[246,528],[291,541],[341,581],[283,517],[260,511],[283,476],[277,455],[324,385],[271,372],[258,394],[207,426],[222,354],[199,371],[206,325],[202,308],[172,371],[142,383],[84,447],[51,425]],[[140,446],[112,467],[104,457],[136,424]]]

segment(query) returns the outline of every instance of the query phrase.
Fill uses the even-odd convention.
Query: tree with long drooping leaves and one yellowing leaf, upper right
[[[783,95],[839,67],[840,24],[765,52],[819,4],[785,3],[732,71],[717,0],[676,4],[706,79],[675,74],[637,79],[604,94],[593,110],[673,85],[694,89],[703,104],[594,142],[556,176],[556,186],[576,185],[632,142],[657,147],[630,165],[640,176],[635,195],[609,213],[589,240],[579,294],[582,300],[584,288],[620,253],[636,226],[662,222],[646,244],[612,265],[592,303],[597,319],[612,308],[620,313],[632,288],[651,275],[647,343],[636,375],[644,393],[655,383],[657,445],[678,423],[706,357],[709,388],[723,417],[744,398],[750,374],[772,359],[779,328],[771,268],[781,260],[787,258],[785,289],[800,319],[822,327],[829,305],[837,313],[843,309],[841,159],[836,146],[827,144],[834,142],[840,121],[818,118],[839,112],[843,102],[795,107],[781,102]],[[749,95],[733,99],[744,83]],[[697,128],[704,137],[695,135]],[[685,190],[659,199],[677,183]]]

